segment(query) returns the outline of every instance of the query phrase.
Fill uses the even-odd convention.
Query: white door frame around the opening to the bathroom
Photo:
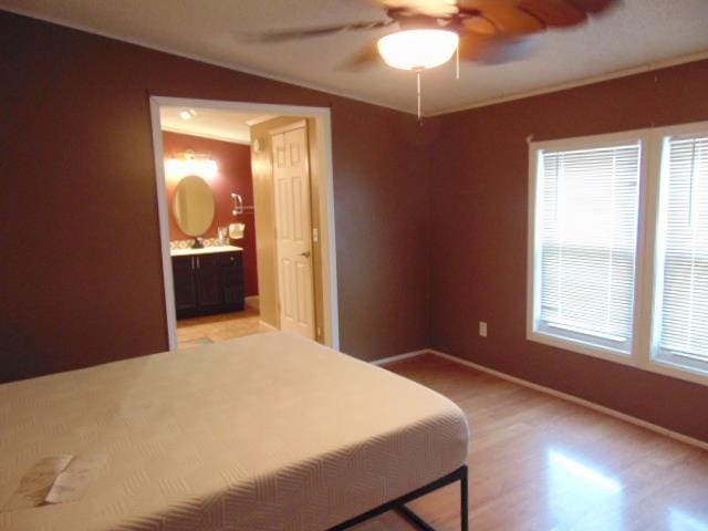
[[[336,288],[336,247],[334,233],[334,170],[332,163],[332,119],[329,107],[309,107],[301,105],[277,105],[249,102],[228,102],[219,100],[196,100],[185,97],[150,96],[150,119],[153,124],[153,152],[155,155],[155,179],[157,185],[157,212],[159,217],[160,251],[163,257],[163,284],[165,290],[165,311],[167,315],[167,340],[169,350],[178,347],[177,313],[175,310],[175,288],[173,263],[169,253],[169,205],[167,204],[167,183],[165,179],[163,128],[160,107],[201,107],[209,110],[235,111],[241,113],[275,114],[279,116],[312,117],[322,132],[322,167],[317,171],[317,195],[320,209],[320,246],[322,254],[322,294],[324,299],[322,324],[324,343],[340,348],[339,302]],[[315,208],[315,205],[312,205]]]

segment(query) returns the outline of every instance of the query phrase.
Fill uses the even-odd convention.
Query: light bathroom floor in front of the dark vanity
[[[258,310],[247,308],[241,312],[180,319],[177,321],[177,341],[179,348],[191,348],[269,330],[260,324]]]

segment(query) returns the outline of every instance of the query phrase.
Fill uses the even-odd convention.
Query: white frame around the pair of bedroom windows
[[[708,122],[673,125],[656,128],[633,129],[591,136],[577,136],[553,140],[529,140],[529,220],[527,250],[527,340],[534,343],[584,354],[601,360],[634,366],[644,371],[671,376],[702,385],[708,385],[708,367],[695,368],[677,365],[665,357],[658,357],[655,315],[655,294],[660,279],[657,273],[660,248],[657,244],[658,215],[660,208],[662,165],[667,143],[665,139],[678,135],[708,135]],[[632,142],[641,143],[639,197],[637,211],[637,241],[635,248],[635,282],[633,337],[628,353],[610,346],[600,346],[582,341],[555,335],[538,330],[540,304],[540,272],[535,268],[540,258],[540,238],[537,235],[540,209],[537,208],[540,187],[539,164],[542,150],[592,149],[611,147]]]

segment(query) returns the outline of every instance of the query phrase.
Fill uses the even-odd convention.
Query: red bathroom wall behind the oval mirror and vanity
[[[187,149],[191,149],[199,155],[209,155],[216,160],[219,171],[216,177],[209,179],[209,186],[216,201],[216,211],[214,222],[206,232],[205,238],[216,238],[218,236],[218,227],[228,227],[229,223],[235,222],[246,223],[243,239],[235,240],[233,244],[243,248],[246,295],[258,295],[253,214],[243,214],[236,217],[231,214],[231,210],[233,210],[232,191],[243,197],[243,205],[253,205],[250,146],[165,131],[163,132],[163,149],[165,158],[179,158]],[[171,216],[173,195],[178,183],[178,179],[167,178],[167,196],[170,205],[169,233],[171,240],[190,238],[179,229],[174,216]]]

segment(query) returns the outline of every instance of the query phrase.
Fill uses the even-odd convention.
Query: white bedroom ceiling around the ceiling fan
[[[239,32],[384,19],[363,0],[0,0],[4,9],[237,70],[415,112],[409,72],[340,65],[381,30],[278,44],[244,44]],[[537,53],[503,65],[425,73],[426,114],[439,114],[708,56],[708,0],[624,0],[601,20],[538,39]]]

